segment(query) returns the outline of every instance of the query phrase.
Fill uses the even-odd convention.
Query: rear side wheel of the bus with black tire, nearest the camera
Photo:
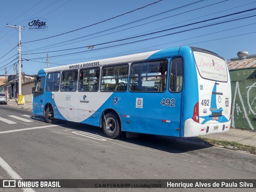
[[[119,118],[113,112],[103,116],[102,127],[104,134],[110,139],[117,139],[122,135]]]

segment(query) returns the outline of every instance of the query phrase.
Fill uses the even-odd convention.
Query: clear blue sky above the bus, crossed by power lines
[[[80,48],[50,52],[111,42],[256,8],[255,0],[204,0],[190,6],[186,5],[199,0],[162,0],[156,4],[152,4],[157,1],[158,0],[2,0],[0,2],[0,34],[2,34],[12,45],[16,46],[18,44],[19,33],[14,28],[6,27],[6,24],[25,27],[25,29],[22,29],[21,33],[22,58],[25,59],[22,62],[22,72],[30,75],[37,74],[39,69],[47,67],[46,58],[42,58],[46,57],[46,53],[40,52],[49,52],[50,67],[181,45],[205,48],[218,53],[227,60],[237,57],[237,52],[242,50],[248,51],[249,55],[256,54],[256,17],[208,26],[187,32],[180,32],[182,30],[188,30],[216,22],[253,16],[256,15],[256,10],[156,33],[150,36],[102,44],[95,46],[92,50]],[[217,2],[220,3],[211,5]],[[152,5],[136,10],[148,4]],[[183,7],[172,10],[181,6]],[[207,7],[202,8],[204,6]],[[136,11],[124,14],[132,10]],[[160,14],[162,12],[166,13]],[[121,14],[124,15],[119,16]],[[155,14],[160,15],[150,17]],[[96,24],[116,16],[119,17]],[[147,17],[150,18],[141,20]],[[47,30],[29,30],[29,22],[37,20],[38,18],[41,21],[46,22]],[[137,20],[140,21],[134,22]],[[111,29],[130,22],[133,23]],[[86,27],[92,24],[95,25]],[[45,40],[29,42],[82,27],[86,28]],[[102,32],[104,30],[107,31]],[[174,32],[180,33],[117,46],[119,44],[171,34]],[[75,38],[79,39],[73,40]],[[9,42],[0,36],[0,58],[14,48]],[[114,47],[110,48],[109,46]],[[97,50],[98,48],[104,47],[105,49]],[[87,52],[70,54],[82,51]],[[17,59],[14,60],[16,56],[18,56],[17,53],[18,51],[14,49],[0,59],[0,75],[5,74],[5,67],[7,67],[8,74],[13,74],[13,64],[18,63]]]

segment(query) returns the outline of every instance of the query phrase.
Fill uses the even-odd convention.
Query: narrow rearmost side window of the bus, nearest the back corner
[[[184,62],[182,57],[176,57],[171,60],[170,84],[171,92],[180,92],[182,90],[184,77]]]

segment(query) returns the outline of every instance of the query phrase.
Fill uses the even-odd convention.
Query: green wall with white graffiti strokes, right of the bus
[[[256,79],[232,81],[231,87],[231,126],[256,131]]]

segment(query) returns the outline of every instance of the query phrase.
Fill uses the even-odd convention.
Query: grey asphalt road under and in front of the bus
[[[142,134],[139,138],[111,140],[98,127],[63,121],[52,125],[33,117],[31,111],[6,105],[0,105],[0,159],[16,173],[10,176],[0,166],[0,179],[15,176],[19,179],[256,178],[256,156],[252,154],[186,138]],[[187,190],[234,192],[255,188],[34,189],[36,192]]]

